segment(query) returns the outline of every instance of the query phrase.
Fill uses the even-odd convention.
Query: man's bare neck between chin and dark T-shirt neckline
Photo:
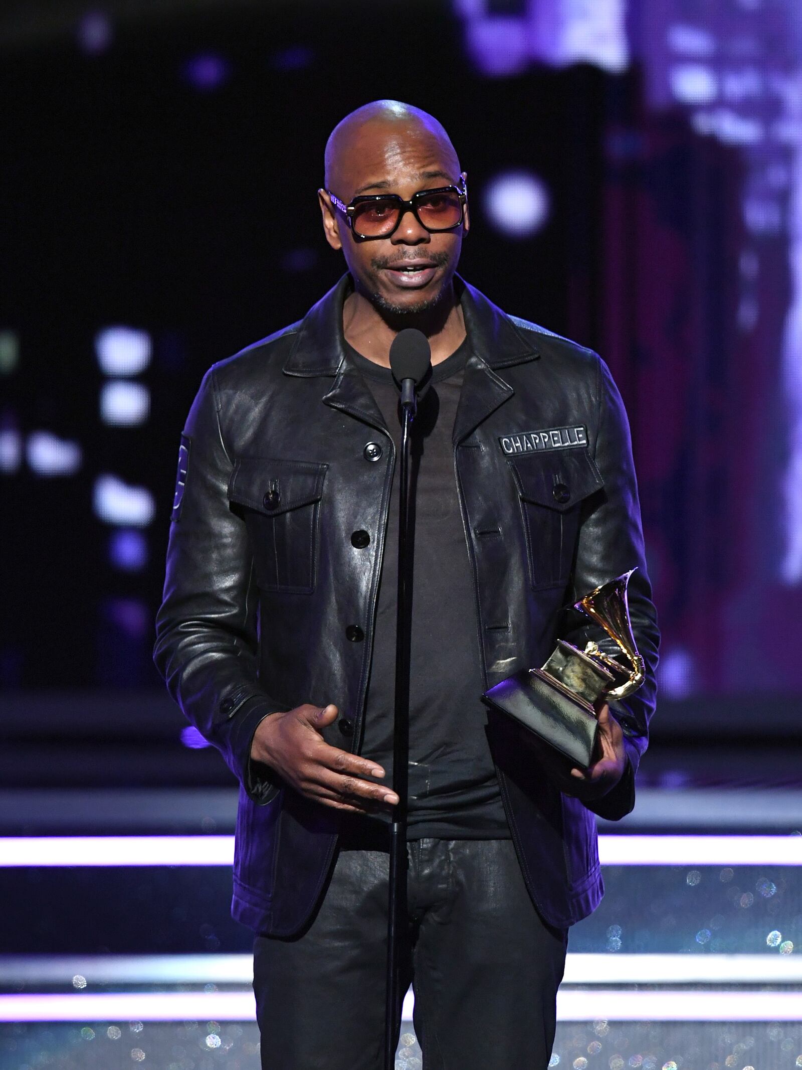
[[[402,321],[403,320],[403,321]],[[383,316],[364,294],[353,290],[342,308],[345,341],[374,364],[390,366],[390,346],[403,327],[422,331],[432,347],[432,364],[441,364],[465,340],[465,323],[453,285],[449,294],[429,314],[398,317]]]

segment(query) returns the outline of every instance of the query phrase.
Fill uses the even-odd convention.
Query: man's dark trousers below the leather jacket
[[[408,943],[425,1070],[544,1070],[568,934],[531,904],[511,840],[408,844]],[[340,851],[300,936],[257,936],[263,1070],[381,1070],[388,856]]]

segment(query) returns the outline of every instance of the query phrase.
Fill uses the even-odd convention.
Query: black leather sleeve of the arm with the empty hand
[[[253,562],[245,523],[229,506],[232,470],[212,368],[182,434],[153,659],[187,720],[265,804],[280,779],[250,761],[251,740],[260,721],[287,706],[259,683]]]

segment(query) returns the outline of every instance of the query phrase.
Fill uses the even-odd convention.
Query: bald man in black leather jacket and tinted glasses
[[[242,785],[232,910],[257,933],[263,1067],[375,1070],[398,800],[388,354],[423,331],[403,980],[427,1070],[545,1067],[567,930],[602,895],[593,813],[632,809],[654,701],[627,419],[595,353],[456,276],[466,175],[431,116],[359,108],[325,165],[324,232],[348,274],[203,380],[155,660]],[[564,607],[633,566],[647,682],[600,709],[598,761],[568,770],[503,715],[488,723],[480,696],[558,636],[604,645]]]

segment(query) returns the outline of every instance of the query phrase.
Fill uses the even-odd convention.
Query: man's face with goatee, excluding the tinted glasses
[[[367,123],[339,153],[329,188],[345,204],[361,194],[398,194],[408,200],[421,189],[461,186],[464,175],[458,168],[450,144],[425,127]],[[342,249],[357,290],[380,310],[420,314],[449,292],[468,229],[467,205],[456,230],[430,233],[406,212],[389,238],[360,242],[325,190],[320,198],[329,245]]]

